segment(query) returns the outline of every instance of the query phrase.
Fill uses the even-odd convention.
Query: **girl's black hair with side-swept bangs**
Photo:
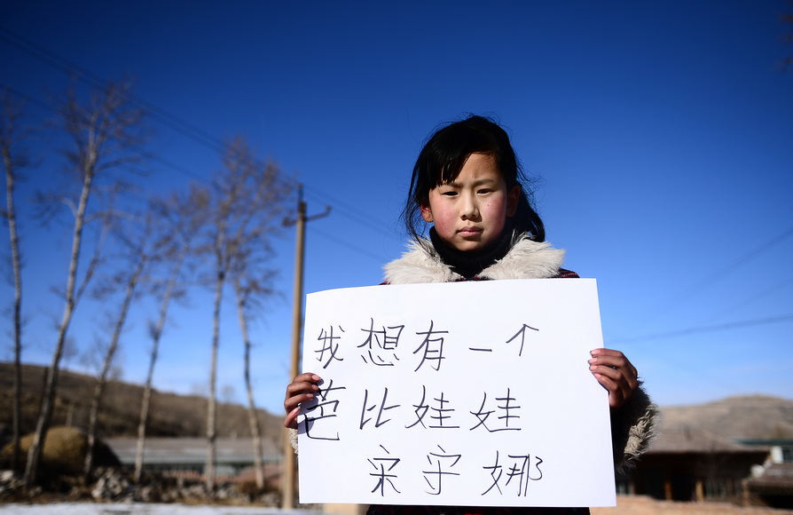
[[[429,191],[453,181],[472,154],[491,155],[496,160],[506,189],[519,186],[521,194],[515,214],[507,227],[517,234],[529,233],[535,242],[544,242],[546,230],[530,202],[530,190],[521,164],[515,156],[506,131],[491,118],[471,115],[436,130],[421,149],[413,166],[410,190],[402,218],[408,234],[419,239],[425,227],[421,206],[429,203]]]

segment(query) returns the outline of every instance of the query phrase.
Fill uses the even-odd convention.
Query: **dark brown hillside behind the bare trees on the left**
[[[36,418],[41,405],[44,368],[25,365],[22,371],[22,432],[35,430]],[[59,372],[58,397],[53,413],[53,425],[75,425],[87,427],[90,400],[96,378],[76,374],[67,370]],[[5,426],[6,438],[12,427],[13,365],[0,363],[0,426]],[[137,420],[143,386],[112,381],[107,384],[99,415],[101,438],[137,436]],[[207,433],[207,399],[198,395],[153,392],[147,434],[149,436],[200,437]],[[239,404],[218,405],[217,436],[247,437],[250,428],[247,409]],[[281,418],[266,410],[257,413],[263,437],[279,440],[283,426]]]

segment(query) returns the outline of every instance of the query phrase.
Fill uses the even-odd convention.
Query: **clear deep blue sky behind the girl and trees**
[[[309,225],[308,292],[381,281],[404,248],[397,217],[422,141],[438,123],[494,115],[542,179],[548,241],[568,250],[566,267],[598,279],[606,344],[668,405],[793,398],[793,69],[781,67],[793,56],[783,41],[793,24],[781,21],[791,11],[782,0],[11,0],[0,28],[93,75],[134,77],[140,98],[216,138],[246,135],[305,184],[310,214],[332,205]],[[67,85],[0,36],[0,83],[38,101]],[[197,178],[219,166],[208,147],[153,125],[162,158]],[[43,164],[20,195],[58,170]],[[155,163],[145,185],[191,180]],[[44,364],[62,313],[49,288],[65,281],[69,237],[29,217],[22,231],[24,359]],[[289,379],[294,234],[278,247],[284,297],[253,334],[256,399],[276,413]],[[7,285],[0,293],[12,297]],[[206,383],[208,296],[192,295],[162,341],[161,390]],[[242,400],[242,348],[224,309],[218,384]],[[83,347],[100,313],[78,311],[71,334]],[[145,377],[151,317],[137,306],[124,334],[128,381]],[[5,334],[8,317],[0,323]]]

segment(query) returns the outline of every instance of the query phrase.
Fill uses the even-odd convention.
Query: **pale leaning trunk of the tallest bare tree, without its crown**
[[[83,174],[82,191],[80,193],[80,202],[77,204],[75,212],[75,233],[72,237],[72,253],[69,258],[69,271],[67,274],[67,289],[66,289],[66,306],[63,312],[63,319],[60,321],[58,329],[58,340],[55,345],[55,352],[52,353],[52,361],[50,367],[47,368],[47,376],[45,379],[44,392],[42,395],[42,408],[38,416],[38,421],[35,424],[35,434],[33,442],[27,451],[27,464],[25,466],[25,483],[31,486],[35,483],[38,467],[41,463],[42,449],[44,440],[46,439],[47,430],[50,428],[52,405],[55,401],[55,390],[58,385],[58,371],[60,365],[60,358],[63,354],[63,345],[66,342],[67,330],[69,323],[72,321],[72,315],[75,311],[75,282],[77,278],[77,264],[80,259],[80,249],[82,246],[82,229],[85,219],[85,210],[88,206],[88,199],[90,196],[91,182],[93,179],[93,164],[96,161],[96,154],[91,154],[90,164],[86,167],[87,171]]]

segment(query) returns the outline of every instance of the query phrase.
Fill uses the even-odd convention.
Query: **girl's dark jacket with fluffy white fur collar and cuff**
[[[544,279],[551,277],[577,277],[561,268],[564,250],[554,249],[550,243],[534,242],[519,237],[499,259],[476,275],[477,279]],[[462,281],[429,240],[412,242],[401,258],[383,267],[388,284],[414,284],[427,282]],[[658,408],[640,386],[631,398],[611,414],[611,437],[614,463],[617,471],[632,468],[648,449],[656,436],[659,422]]]

